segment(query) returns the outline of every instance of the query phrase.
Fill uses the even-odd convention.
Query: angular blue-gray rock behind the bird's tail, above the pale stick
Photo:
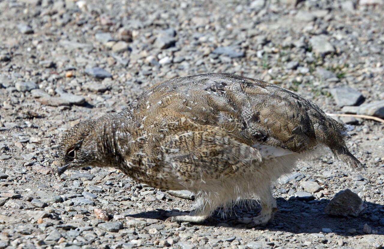
[[[340,86],[329,90],[340,107],[358,105],[364,100],[364,96],[359,91],[348,86]]]

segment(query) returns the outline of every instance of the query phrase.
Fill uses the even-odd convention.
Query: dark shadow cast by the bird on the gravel
[[[286,200],[277,198],[277,206],[279,211],[275,213],[275,219],[269,222],[265,227],[255,227],[255,229],[269,229],[270,231],[286,231],[295,234],[300,233],[319,233],[329,231],[329,229],[342,236],[356,236],[366,234],[363,231],[364,225],[367,224],[372,229],[372,233],[384,235],[384,227],[379,224],[379,221],[372,216],[382,219],[384,206],[381,204],[365,202],[367,208],[358,216],[329,216],[324,213],[324,208],[329,203],[329,200],[314,200],[310,202],[301,201],[298,199]],[[251,229],[252,224],[244,224],[243,217],[257,216],[260,211],[259,207],[244,209],[246,203],[236,205],[232,209],[232,215],[227,214],[222,217],[219,211],[209,217],[200,226],[227,226],[236,227],[239,229]],[[167,218],[165,211],[158,209],[157,211],[140,212],[129,215],[136,218],[150,218],[165,221]],[[236,214],[233,214],[236,213]],[[252,215],[250,215],[252,214]],[[371,220],[371,219],[373,220]],[[354,231],[354,229],[356,231]]]

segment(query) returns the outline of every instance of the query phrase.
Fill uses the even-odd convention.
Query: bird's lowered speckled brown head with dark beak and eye
[[[73,126],[60,143],[57,173],[96,164],[98,158],[97,131],[94,121],[87,120]]]

